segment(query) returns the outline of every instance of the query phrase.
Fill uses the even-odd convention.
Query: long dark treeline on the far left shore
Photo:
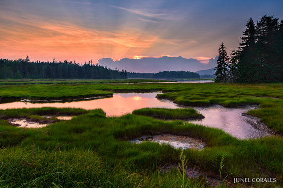
[[[74,62],[31,62],[26,59],[0,59],[0,78],[62,78],[62,79],[126,79],[126,70],[111,70],[91,62],[80,65]]]

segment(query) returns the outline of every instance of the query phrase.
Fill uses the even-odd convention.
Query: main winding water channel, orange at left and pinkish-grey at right
[[[132,113],[133,110],[141,108],[182,108],[169,100],[159,100],[155,93],[127,93],[113,94],[111,98],[101,98],[88,101],[73,101],[73,102],[55,102],[55,103],[29,103],[29,102],[12,102],[0,104],[0,109],[7,108],[40,108],[40,107],[72,107],[83,109],[101,108],[108,117],[122,116]],[[270,136],[272,133],[258,119],[243,116],[256,106],[244,106],[238,108],[225,108],[220,105],[210,107],[192,107],[205,116],[202,120],[190,121],[196,124],[202,124],[208,127],[215,127],[224,130],[225,132],[239,138],[256,138]]]

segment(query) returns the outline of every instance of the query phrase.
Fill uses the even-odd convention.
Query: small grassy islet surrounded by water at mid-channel
[[[132,112],[136,115],[150,116],[159,119],[202,119],[204,116],[193,108],[169,109],[169,108],[142,108]]]

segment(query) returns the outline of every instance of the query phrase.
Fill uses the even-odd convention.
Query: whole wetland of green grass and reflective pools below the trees
[[[212,178],[221,175],[222,160],[222,172],[230,174],[228,182],[239,177],[273,177],[275,183],[245,186],[280,186],[282,88],[282,84],[216,83],[2,85],[1,186],[50,187],[54,182],[76,187],[80,183],[74,180],[85,180],[84,184],[99,187],[134,187],[139,183],[141,187],[181,187],[176,169],[159,172],[168,164],[178,165],[182,149],[188,168],[196,167]],[[66,100],[68,97],[71,99]],[[73,100],[89,97],[105,98]],[[160,112],[157,108],[168,110]],[[176,110],[191,108],[205,118],[192,120],[191,114],[185,115],[188,120],[169,118]],[[162,118],[148,117],[153,111],[149,115],[132,114],[138,109],[157,109]],[[39,122],[57,116],[71,118],[36,129],[9,123],[16,118]],[[144,139],[147,141],[129,142]],[[174,147],[170,144],[173,141],[179,146],[183,142],[199,146]],[[230,185],[228,182],[226,186]],[[188,176],[186,183],[191,187],[211,187],[201,177]]]

